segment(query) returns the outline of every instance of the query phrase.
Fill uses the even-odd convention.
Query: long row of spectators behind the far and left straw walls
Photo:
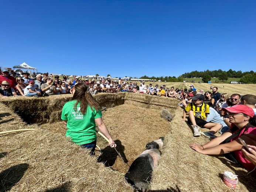
[[[22,72],[21,76],[14,78],[13,74],[9,71],[2,71],[0,75],[0,97],[9,96],[49,96],[49,95],[61,95],[72,94],[74,85],[76,83],[86,83],[89,86],[89,92],[91,94],[97,93],[117,93],[117,92],[130,92],[147,95],[156,95],[164,97],[174,97],[178,100],[187,100],[189,93],[196,91],[194,86],[190,86],[190,89],[175,89],[174,87],[167,88],[165,85],[155,86],[150,83],[145,85],[145,82],[132,82],[125,81],[119,78],[113,79],[79,79],[78,76],[74,76],[68,79],[67,76],[63,76],[62,79],[58,75],[43,73],[35,75],[35,73]],[[138,85],[139,84],[139,85]],[[203,90],[201,90],[203,92]],[[191,94],[190,94],[191,95]]]

